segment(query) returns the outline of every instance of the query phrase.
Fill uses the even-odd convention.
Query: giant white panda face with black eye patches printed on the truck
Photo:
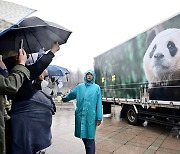
[[[149,46],[143,58],[144,73],[149,87],[180,85],[180,29],[169,28],[157,35],[153,32],[153,35],[149,36],[150,39],[148,38],[149,42],[147,42]],[[162,89],[162,87],[159,88]],[[175,96],[172,93],[174,89]],[[167,92],[172,97],[180,95],[180,89],[174,89],[165,88],[161,90],[163,92],[161,93],[162,97],[167,95]]]

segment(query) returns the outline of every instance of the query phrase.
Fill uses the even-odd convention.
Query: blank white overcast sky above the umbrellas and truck
[[[7,0],[72,31],[51,64],[82,72],[94,57],[179,14],[180,0]]]

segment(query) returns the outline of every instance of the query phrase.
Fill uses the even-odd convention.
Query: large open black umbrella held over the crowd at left
[[[13,28],[0,36],[0,53],[18,51],[19,43],[23,39],[23,48],[27,53],[51,49],[54,42],[64,44],[71,31],[52,22],[44,21],[38,17],[29,17],[22,21],[18,27]]]

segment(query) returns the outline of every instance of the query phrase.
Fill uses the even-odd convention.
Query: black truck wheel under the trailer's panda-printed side
[[[130,125],[138,125],[138,115],[133,106],[129,106],[126,112],[126,117]]]

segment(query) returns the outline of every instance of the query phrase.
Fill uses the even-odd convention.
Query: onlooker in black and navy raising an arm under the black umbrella
[[[59,49],[59,43],[53,43],[47,54],[26,66],[30,71],[30,80],[25,80],[19,91],[9,96],[12,100],[12,146],[7,145],[7,153],[32,154],[51,145],[52,102],[41,91],[33,90],[32,81],[47,68]],[[5,52],[3,61],[8,71],[16,64],[16,56],[15,51]]]

